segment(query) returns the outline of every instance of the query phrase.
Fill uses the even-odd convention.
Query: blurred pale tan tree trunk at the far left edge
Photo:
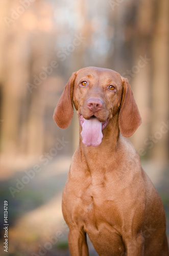
[[[26,34],[20,33],[21,26],[16,21],[8,27],[4,17],[10,17],[11,8],[16,8],[19,1],[3,5],[1,10],[6,9],[2,19],[3,30],[1,30],[1,79],[2,79],[2,112],[4,122],[1,127],[1,140],[4,153],[10,155],[19,151],[19,132],[21,120],[19,119],[22,98],[25,97],[28,80],[28,62],[25,52]]]

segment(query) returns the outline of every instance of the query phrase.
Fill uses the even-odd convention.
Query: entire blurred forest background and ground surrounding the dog
[[[71,73],[87,66],[129,79],[142,117],[131,141],[163,200],[169,235],[168,11],[168,0],[1,2],[1,255],[4,200],[8,255],[69,255],[61,194],[79,124],[75,113],[61,130],[52,116]]]

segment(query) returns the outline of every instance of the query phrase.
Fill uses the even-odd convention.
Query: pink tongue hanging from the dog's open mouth
[[[85,146],[99,146],[103,138],[102,122],[98,118],[84,119],[81,136]]]

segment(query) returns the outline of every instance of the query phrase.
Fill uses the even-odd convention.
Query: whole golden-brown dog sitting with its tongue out
[[[165,213],[130,137],[141,117],[128,80],[110,69],[73,73],[54,112],[66,128],[79,115],[80,142],[63,191],[71,256],[86,256],[86,233],[101,256],[166,256]]]

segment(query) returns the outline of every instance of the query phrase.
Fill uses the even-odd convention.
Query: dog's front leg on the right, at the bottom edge
[[[134,237],[125,238],[126,256],[143,256],[144,255],[144,238],[142,233],[136,234]]]

